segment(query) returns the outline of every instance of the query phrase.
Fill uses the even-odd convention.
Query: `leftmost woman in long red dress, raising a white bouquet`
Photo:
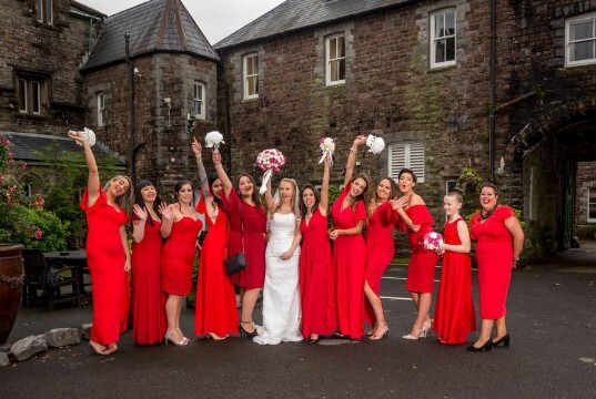
[[[124,224],[131,201],[131,182],[127,176],[112,177],[100,186],[93,152],[80,132],[69,136],[82,145],[89,168],[81,208],[87,214],[87,263],[91,272],[93,327],[89,345],[98,355],[118,350],[124,275],[130,270],[130,252]]]

